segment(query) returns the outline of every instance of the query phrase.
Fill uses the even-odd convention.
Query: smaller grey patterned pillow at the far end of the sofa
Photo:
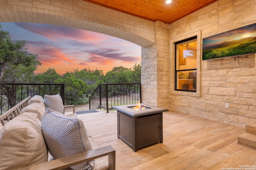
[[[52,96],[45,94],[44,104],[45,104],[45,107],[64,114],[64,105],[63,105],[60,94],[56,94]]]

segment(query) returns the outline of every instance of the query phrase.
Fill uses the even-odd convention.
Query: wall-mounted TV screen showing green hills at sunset
[[[202,60],[256,53],[256,23],[203,39]]]

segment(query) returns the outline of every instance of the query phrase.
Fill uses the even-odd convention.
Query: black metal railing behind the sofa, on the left
[[[63,104],[65,102],[64,84],[0,83],[0,115],[28,96],[39,95],[44,98],[44,94],[60,94]]]

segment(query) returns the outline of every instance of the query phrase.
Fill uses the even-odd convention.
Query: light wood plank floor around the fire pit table
[[[117,138],[116,111],[78,115],[99,147],[116,150],[116,170],[222,170],[256,165],[256,151],[237,145],[244,128],[164,112],[164,143],[134,152]]]

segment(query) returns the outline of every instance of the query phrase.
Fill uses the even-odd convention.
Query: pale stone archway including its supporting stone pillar
[[[142,100],[153,106],[168,105],[168,88],[162,88],[163,84],[168,87],[170,77],[169,70],[166,69],[169,63],[168,25],[130,16],[83,0],[5,0],[0,3],[0,21],[74,27],[140,45]]]

